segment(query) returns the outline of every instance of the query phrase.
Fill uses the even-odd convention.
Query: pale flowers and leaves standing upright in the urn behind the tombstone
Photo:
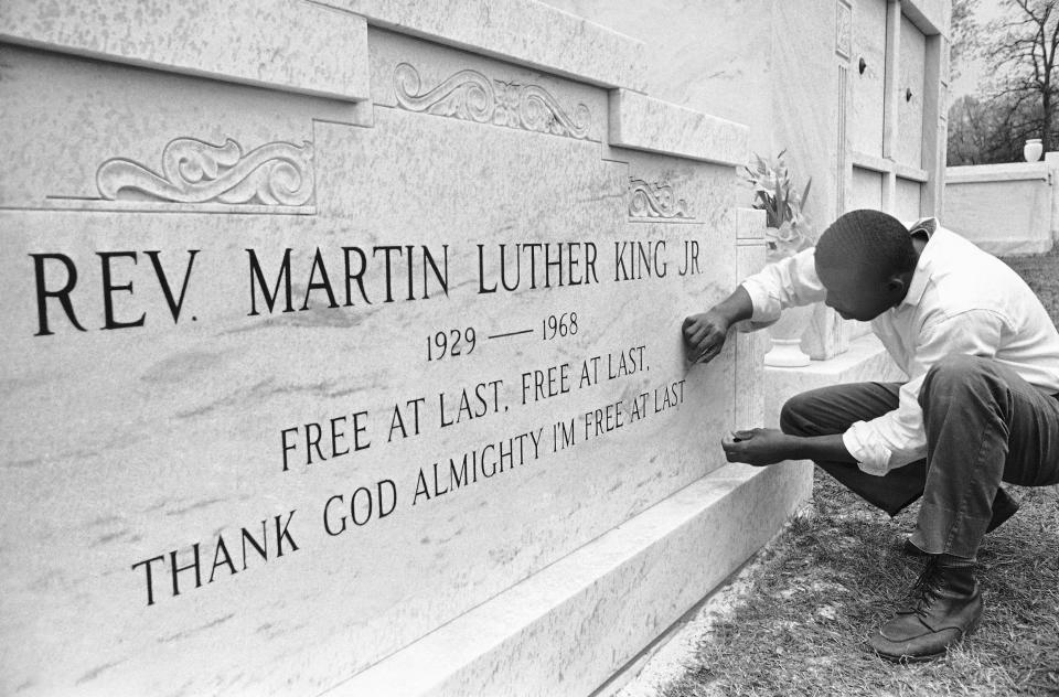
[[[768,227],[764,239],[768,259],[775,261],[798,254],[816,244],[816,236],[804,213],[812,178],[799,194],[791,180],[791,172],[783,160],[787,150],[775,156],[775,165],[755,153],[753,160],[744,165],[744,179],[753,187],[753,207],[764,211]]]

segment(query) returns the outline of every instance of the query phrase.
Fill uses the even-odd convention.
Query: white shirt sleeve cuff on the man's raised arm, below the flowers
[[[751,322],[772,323],[785,308],[811,304],[826,297],[816,276],[815,251],[803,249],[744,279],[741,285],[753,303]]]

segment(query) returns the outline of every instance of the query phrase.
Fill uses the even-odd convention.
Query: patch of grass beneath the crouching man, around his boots
[[[945,657],[894,664],[867,637],[919,573],[900,551],[918,506],[890,521],[817,469],[813,505],[661,695],[1059,695],[1059,497],[1009,491],[1021,510],[978,555],[982,628]]]

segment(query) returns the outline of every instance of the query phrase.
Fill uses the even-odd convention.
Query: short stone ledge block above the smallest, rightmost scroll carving
[[[610,144],[719,164],[747,160],[750,129],[628,89],[610,93]]]

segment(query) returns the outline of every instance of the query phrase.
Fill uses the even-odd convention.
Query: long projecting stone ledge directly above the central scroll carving
[[[601,87],[644,89],[643,42],[534,0],[315,0],[368,23]]]

